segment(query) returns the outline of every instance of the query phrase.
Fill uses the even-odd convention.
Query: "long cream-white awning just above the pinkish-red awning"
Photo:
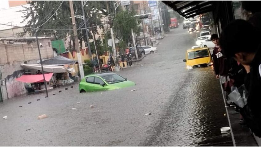
[[[37,69],[42,71],[42,67],[40,64],[21,64],[23,68],[26,69]],[[52,73],[62,73],[62,72],[71,72],[69,69],[67,69],[64,66],[58,66],[58,65],[42,65],[43,71],[46,72],[52,72]]]

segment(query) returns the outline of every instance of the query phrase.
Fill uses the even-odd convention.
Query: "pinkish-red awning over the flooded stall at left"
[[[46,82],[50,81],[52,76],[53,76],[53,73],[44,74],[45,81]],[[15,80],[20,81],[20,82],[24,82],[24,83],[44,82],[43,75],[23,75],[23,76],[20,76],[19,78],[15,79]]]

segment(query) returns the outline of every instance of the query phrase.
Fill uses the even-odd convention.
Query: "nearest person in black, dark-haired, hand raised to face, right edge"
[[[247,104],[240,110],[247,126],[256,136],[261,137],[261,31],[260,26],[237,19],[225,27],[220,44],[227,57],[241,63],[247,75],[245,86],[248,91]]]

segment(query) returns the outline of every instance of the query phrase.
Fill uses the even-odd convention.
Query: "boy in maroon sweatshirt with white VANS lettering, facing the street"
[[[224,83],[229,81],[229,75],[228,75],[228,71],[230,69],[229,61],[223,55],[223,51],[219,45],[219,36],[217,34],[213,34],[211,35],[210,39],[215,44],[213,50],[213,64],[214,64],[215,75],[217,79],[220,78],[221,84],[224,85]],[[225,95],[227,99],[227,105],[231,105],[231,101],[228,98],[228,94],[229,92],[226,91]]]

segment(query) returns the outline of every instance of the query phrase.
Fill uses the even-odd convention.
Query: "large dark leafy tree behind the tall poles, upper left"
[[[36,27],[45,28],[45,29],[72,29],[71,14],[69,1],[27,1],[30,4],[29,8],[26,8],[26,15],[23,17],[25,22],[28,23],[26,27],[33,27],[33,21],[31,18],[31,10],[34,10],[34,16],[36,20]],[[114,1],[88,1],[84,6],[85,16],[87,20],[87,26],[91,25],[96,26],[102,24],[100,19],[108,15],[108,10],[114,12]],[[82,15],[82,5],[80,1],[74,1],[74,14]],[[92,17],[91,17],[92,16]],[[92,22],[90,22],[91,18]],[[84,22],[82,19],[75,19],[77,27],[84,27]],[[92,23],[92,24],[90,24]],[[98,34],[97,29],[102,29],[103,26],[94,27],[94,32]],[[88,30],[89,34],[91,29]],[[20,36],[24,36],[26,33],[29,33],[31,36],[34,36],[34,31],[32,29],[24,28],[22,33],[19,33]],[[51,36],[54,35],[56,39],[64,39],[67,35],[71,35],[72,31],[52,31],[52,30],[38,30],[40,36]],[[86,32],[85,30],[78,30],[78,38],[80,43],[85,41],[87,45]],[[71,38],[74,43],[74,37]],[[89,35],[89,39],[92,39],[92,35]],[[74,45],[73,45],[74,46]]]

